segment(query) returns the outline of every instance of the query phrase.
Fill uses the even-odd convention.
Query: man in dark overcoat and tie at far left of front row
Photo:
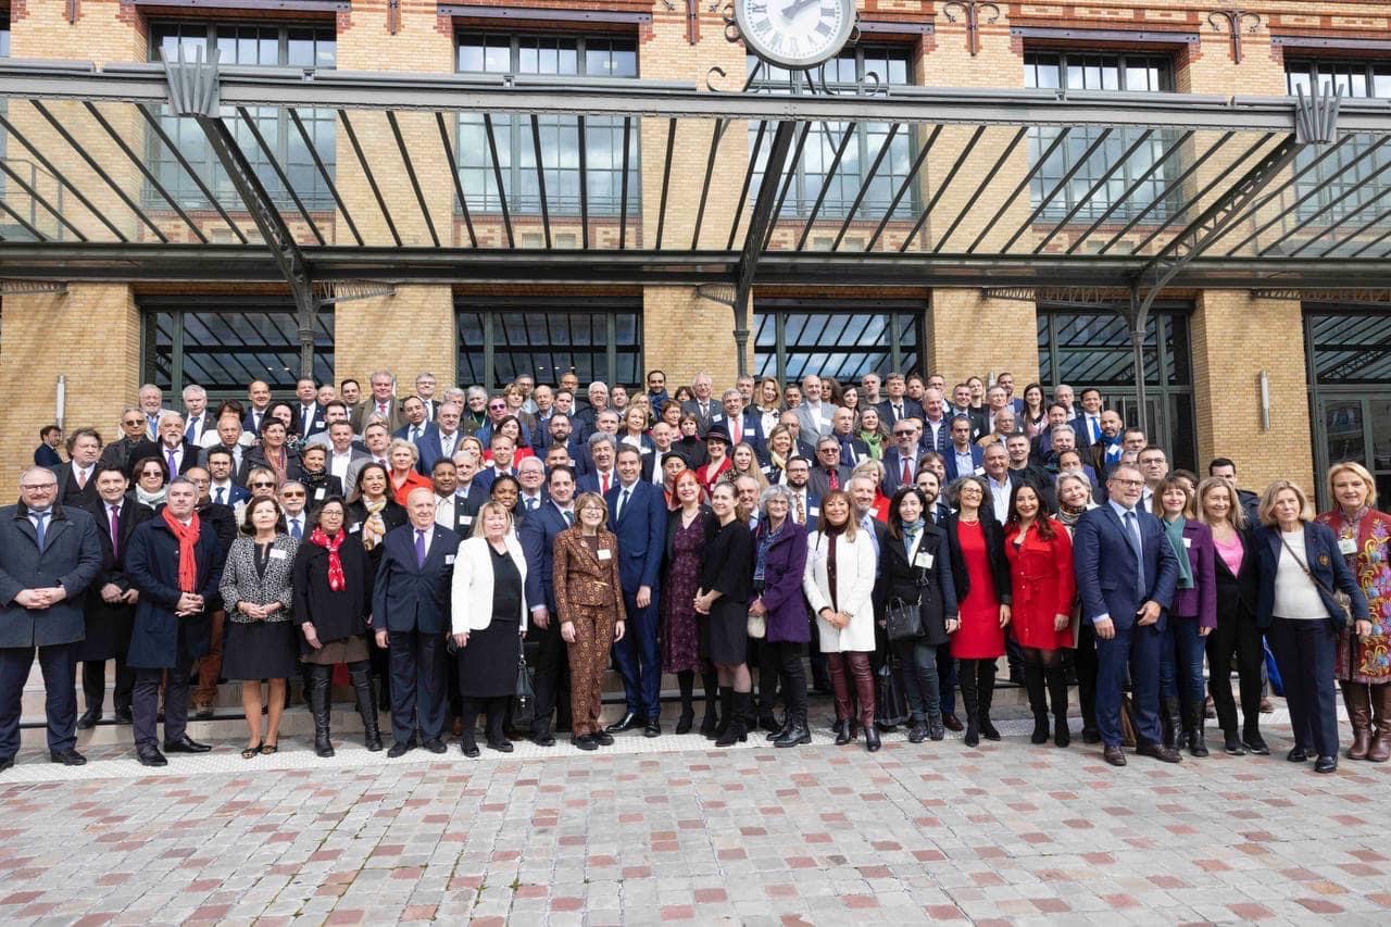
[[[72,689],[82,600],[102,569],[102,543],[86,511],[58,502],[46,466],[19,475],[19,502],[0,508],[0,771],[19,752],[24,683],[35,651],[43,671],[49,759],[82,766]]]

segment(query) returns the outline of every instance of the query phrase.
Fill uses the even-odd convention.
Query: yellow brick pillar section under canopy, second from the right
[[[928,308],[928,373],[947,391],[970,376],[1014,374],[1017,394],[1038,379],[1039,348],[1032,302],[988,299],[979,290],[933,290]]]

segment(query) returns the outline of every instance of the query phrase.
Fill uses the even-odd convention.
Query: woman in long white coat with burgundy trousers
[[[836,695],[836,745],[854,739],[850,676],[860,702],[860,727],[865,747],[879,749],[874,725],[874,582],[878,555],[874,534],[861,530],[851,512],[850,496],[832,490],[821,500],[821,525],[807,539],[803,592],[817,614],[821,651],[830,668]]]

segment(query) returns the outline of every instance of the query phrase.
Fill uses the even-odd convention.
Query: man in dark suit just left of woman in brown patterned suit
[[[526,557],[526,605],[536,628],[531,639],[537,642],[531,740],[538,746],[555,746],[551,715],[556,707],[562,722],[570,717],[569,686],[565,681],[569,664],[556,618],[552,551],[556,534],[574,523],[573,500],[574,470],[568,466],[551,468],[545,504],[529,512],[517,530],[517,541]]]

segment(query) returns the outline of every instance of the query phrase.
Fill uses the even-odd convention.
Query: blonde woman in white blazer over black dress
[[[488,747],[512,752],[502,721],[517,683],[519,636],[526,635],[524,583],[526,560],[512,533],[512,515],[499,502],[484,502],[473,521],[473,536],[459,544],[451,590],[463,697],[459,747],[470,759],[479,756],[474,727],[480,713],[488,718]]]

